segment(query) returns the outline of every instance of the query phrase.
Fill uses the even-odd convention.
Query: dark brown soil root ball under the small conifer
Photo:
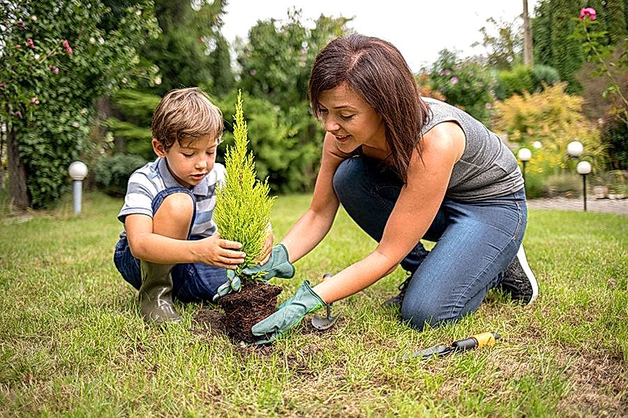
[[[260,320],[274,313],[277,295],[283,289],[263,281],[246,282],[237,293],[230,293],[218,300],[218,305],[225,311],[225,332],[239,343],[254,343],[258,339],[251,333],[251,327]]]

